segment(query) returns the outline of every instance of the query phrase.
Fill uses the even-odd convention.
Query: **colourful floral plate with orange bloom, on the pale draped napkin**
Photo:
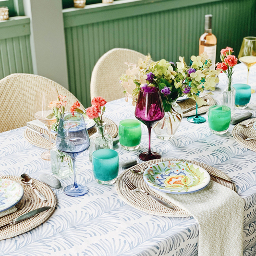
[[[150,187],[170,194],[193,193],[210,182],[205,169],[185,161],[153,164],[144,171],[143,178]]]

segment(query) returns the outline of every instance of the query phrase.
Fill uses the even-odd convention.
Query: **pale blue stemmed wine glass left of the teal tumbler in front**
[[[56,147],[68,154],[73,160],[74,184],[64,188],[64,193],[69,196],[85,195],[88,188],[76,183],[75,158],[90,146],[90,139],[86,129],[85,120],[81,113],[65,113],[60,118],[56,138]]]

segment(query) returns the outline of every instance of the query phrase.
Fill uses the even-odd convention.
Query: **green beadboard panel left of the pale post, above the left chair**
[[[12,73],[33,73],[29,36],[0,40],[0,79]]]

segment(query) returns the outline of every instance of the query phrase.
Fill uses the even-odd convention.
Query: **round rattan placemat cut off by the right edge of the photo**
[[[250,122],[256,122],[256,118],[247,119],[240,123],[247,124]],[[253,128],[253,125],[250,125],[249,127],[243,127],[242,125],[240,125],[240,123],[238,123],[233,128],[232,134],[233,134],[234,139],[239,144],[243,145],[244,147],[251,149],[253,151],[256,151],[256,141],[255,140],[246,141],[238,135],[238,133],[243,133],[247,137],[256,139],[256,130]]]

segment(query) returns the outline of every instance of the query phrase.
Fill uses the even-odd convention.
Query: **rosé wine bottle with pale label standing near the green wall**
[[[211,59],[211,69],[215,68],[217,38],[212,34],[212,15],[205,15],[205,33],[199,39],[199,55],[207,52]]]

